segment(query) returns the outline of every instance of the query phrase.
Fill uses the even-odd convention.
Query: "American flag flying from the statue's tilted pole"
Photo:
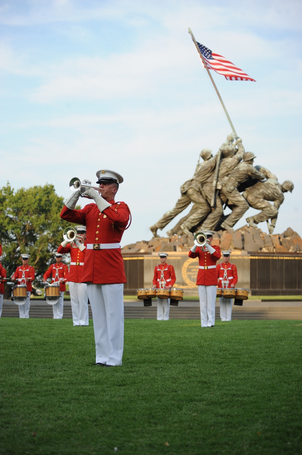
[[[208,47],[197,43],[209,70],[222,74],[228,81],[255,81],[240,68],[219,54],[214,54]]]

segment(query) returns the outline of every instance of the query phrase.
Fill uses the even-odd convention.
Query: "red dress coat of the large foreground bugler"
[[[86,226],[87,245],[93,243],[120,243],[123,229],[130,216],[124,202],[108,201],[111,205],[99,211],[92,203],[80,210],[64,206],[60,217],[64,220]],[[120,229],[121,228],[121,229]],[[103,248],[106,245],[103,245]],[[126,283],[124,261],[120,248],[89,249],[85,253],[82,283],[117,284]]]

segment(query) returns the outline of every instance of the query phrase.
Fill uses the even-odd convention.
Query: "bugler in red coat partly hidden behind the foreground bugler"
[[[70,303],[74,325],[89,325],[87,284],[82,283],[82,272],[86,253],[86,226],[76,226],[78,238],[74,242],[64,240],[58,253],[70,253],[70,268],[68,273]]]

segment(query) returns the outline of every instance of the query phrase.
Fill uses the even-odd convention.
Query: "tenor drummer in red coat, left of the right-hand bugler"
[[[172,288],[176,281],[173,265],[167,264],[167,253],[158,253],[160,264],[154,268],[153,289]],[[168,321],[170,313],[170,299],[157,298],[157,320]]]

